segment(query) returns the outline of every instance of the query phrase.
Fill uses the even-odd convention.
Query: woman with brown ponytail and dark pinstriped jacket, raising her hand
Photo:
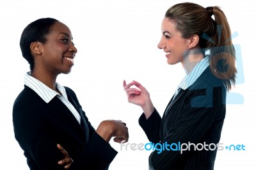
[[[165,13],[161,31],[157,47],[169,65],[181,63],[186,74],[163,117],[139,82],[124,81],[123,86],[129,102],[143,110],[139,123],[150,142],[190,143],[190,150],[154,150],[149,169],[214,169],[226,93],[236,83],[237,72],[227,18],[218,6],[179,3]]]

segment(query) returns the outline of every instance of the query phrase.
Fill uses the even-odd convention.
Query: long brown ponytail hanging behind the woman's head
[[[215,44],[210,44],[211,72],[222,79],[226,88],[236,84],[236,51],[232,44],[231,31],[225,14],[217,6],[213,7],[216,33],[212,36]]]

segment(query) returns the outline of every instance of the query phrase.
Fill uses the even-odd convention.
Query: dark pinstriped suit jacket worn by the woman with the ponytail
[[[139,123],[152,143],[217,144],[225,118],[225,98],[223,82],[214,77],[208,67],[188,89],[181,89],[177,97],[170,100],[170,103],[173,102],[163,118],[155,109],[148,120],[142,114]],[[200,150],[202,146],[198,145],[198,148]],[[155,150],[149,157],[149,167],[161,170],[214,169],[217,149],[206,148],[208,150],[195,151],[191,146],[190,151],[182,153],[173,151],[177,149],[175,147],[161,153]],[[214,145],[211,145],[211,149],[214,149]]]

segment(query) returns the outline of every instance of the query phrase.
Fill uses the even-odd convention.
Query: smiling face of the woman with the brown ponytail
[[[163,34],[157,47],[166,52],[169,65],[182,63],[185,52],[189,50],[189,39],[182,38],[181,33],[176,29],[175,23],[168,18],[163,19],[161,29]]]

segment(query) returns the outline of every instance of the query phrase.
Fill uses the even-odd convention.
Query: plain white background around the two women
[[[183,1],[31,1],[2,0],[1,88],[0,88],[0,169],[28,169],[26,159],[12,126],[12,105],[23,88],[24,73],[29,65],[22,58],[20,35],[30,22],[53,17],[67,24],[78,49],[75,66],[58,82],[74,89],[89,120],[95,128],[106,119],[122,120],[129,127],[129,143],[148,143],[138,125],[140,107],[129,104],[122,81],[136,80],[150,92],[157,110],[163,114],[177,84],[184,76],[181,65],[166,63],[163,50],[157,49],[161,38],[161,21],[166,10]],[[255,5],[253,1],[193,1],[207,6],[220,6],[227,15],[234,44],[241,47],[244,82],[232,89],[243,95],[243,104],[228,104],[220,143],[244,144],[245,151],[218,151],[215,169],[255,168]],[[241,78],[241,77],[240,77]],[[119,153],[110,169],[148,169],[150,151],[121,151],[120,144],[111,146]]]

